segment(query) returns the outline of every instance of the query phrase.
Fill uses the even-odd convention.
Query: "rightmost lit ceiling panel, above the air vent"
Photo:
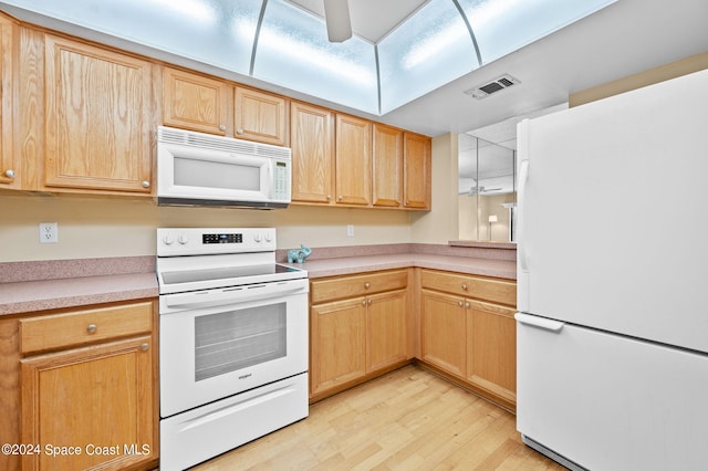
[[[616,0],[458,0],[487,64]]]

